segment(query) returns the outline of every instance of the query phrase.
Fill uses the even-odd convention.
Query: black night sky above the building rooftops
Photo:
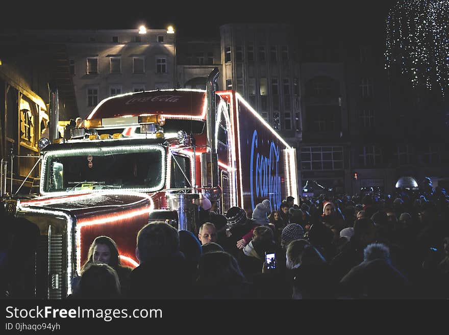
[[[224,23],[292,23],[298,32],[333,36],[340,32],[384,29],[388,9],[396,0],[381,1],[156,1],[35,2],[21,11],[2,10],[0,28],[24,29],[134,29],[139,23],[164,29],[172,24],[179,35],[214,36]],[[217,5],[218,3],[222,5]],[[114,5],[112,5],[114,4]],[[224,5],[226,4],[226,5]],[[295,4],[296,8],[291,6]],[[61,7],[63,6],[63,7]],[[76,6],[76,7],[75,7]],[[8,14],[16,13],[17,15]],[[20,19],[17,19],[20,17]],[[355,30],[354,30],[355,29]]]

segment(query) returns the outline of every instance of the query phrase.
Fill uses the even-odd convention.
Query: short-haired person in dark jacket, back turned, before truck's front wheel
[[[161,221],[145,225],[137,234],[136,256],[140,265],[130,275],[130,298],[188,297],[192,283],[175,228]]]

